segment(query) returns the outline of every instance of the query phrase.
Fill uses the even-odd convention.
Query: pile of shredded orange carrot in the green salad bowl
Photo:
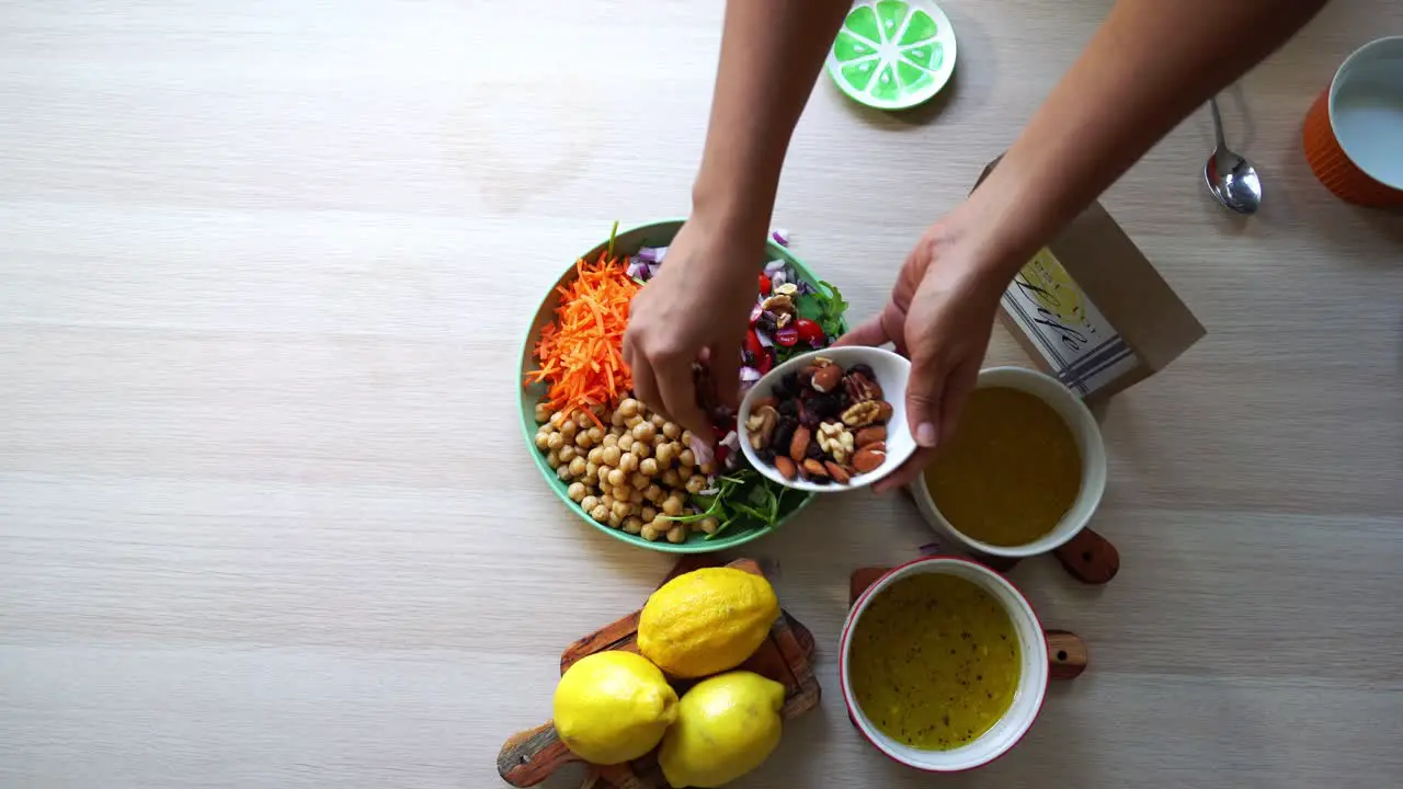
[[[574,416],[584,410],[603,427],[589,407],[613,404],[633,389],[633,375],[623,361],[623,333],[638,284],[623,260],[600,256],[592,264],[575,261],[575,278],[557,292],[556,320],[536,343],[540,369],[528,373],[526,382],[550,383],[546,402],[551,411]]]

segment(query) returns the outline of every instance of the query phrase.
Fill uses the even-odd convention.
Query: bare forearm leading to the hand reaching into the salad
[[[849,0],[730,0],[693,212],[763,234],[784,153]]]

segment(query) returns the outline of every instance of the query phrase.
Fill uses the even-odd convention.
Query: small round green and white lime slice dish
[[[955,29],[932,0],[854,3],[828,52],[839,90],[877,110],[926,101],[954,70]]]

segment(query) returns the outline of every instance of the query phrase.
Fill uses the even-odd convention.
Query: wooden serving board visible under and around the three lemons
[[[718,562],[707,556],[687,556],[668,573],[662,583],[697,570],[714,567]],[[760,566],[751,559],[738,559],[727,564],[746,573],[763,576]],[[570,644],[560,656],[560,672],[564,674],[578,660],[606,650],[638,651],[638,615],[634,611],[617,622]],[[790,720],[818,706],[821,691],[814,678],[814,635],[786,611],[770,628],[770,637],[760,644],[738,668],[769,677],[784,685],[784,706],[780,716]],[[696,681],[671,678],[678,695],[686,692]],[[512,734],[497,754],[497,772],[512,786],[535,786],[570,762],[582,760],[572,754],[551,722],[529,731]],[[671,789],[655,754],[648,754],[629,764],[589,765],[595,789]],[[588,782],[586,782],[588,783]]]

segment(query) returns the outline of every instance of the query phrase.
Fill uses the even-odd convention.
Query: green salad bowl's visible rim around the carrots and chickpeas
[[[682,229],[682,219],[665,219],[661,222],[651,222],[648,225],[640,225],[637,227],[619,232],[615,236],[615,254],[634,256],[643,247],[665,247],[672,243],[673,236]],[[600,241],[592,250],[584,253],[581,257],[585,260],[596,260],[600,253],[606,251],[609,247],[607,239]],[[814,274],[808,265],[804,264],[798,257],[790,250],[781,247],[773,240],[765,250],[765,260],[783,260],[794,272],[815,286],[819,285],[819,278]],[[756,271],[763,261],[756,261]],[[631,535],[623,529],[616,529],[609,526],[609,524],[600,524],[591,518],[578,504],[570,500],[567,494],[568,484],[561,482],[556,476],[556,472],[546,463],[546,453],[536,449],[536,428],[540,427],[536,423],[536,403],[546,397],[546,385],[535,383],[525,385],[526,373],[533,372],[539,368],[533,348],[536,341],[540,338],[540,331],[556,317],[556,306],[560,302],[560,295],[557,288],[570,282],[575,277],[574,261],[565,267],[565,272],[551,285],[546,298],[542,299],[540,306],[536,309],[536,314],[530,320],[530,327],[526,330],[526,338],[522,341],[521,352],[521,371],[516,376],[516,386],[521,392],[521,407],[522,407],[522,441],[526,451],[530,453],[532,460],[540,470],[540,476],[546,480],[546,486],[554,491],[554,494],[570,508],[581,521],[589,524],[591,526],[599,529],[600,532],[638,548],[647,548],[650,550],[661,550],[664,553],[710,553],[714,550],[727,550],[745,545],[748,542],[756,541],[779,526],[784,525],[790,518],[793,518],[800,510],[807,507],[810,501],[814,500],[812,493],[803,491],[788,491],[788,494],[780,503],[780,517],[774,524],[762,524],[758,521],[737,521],[727,526],[724,531],[714,536],[707,538],[703,533],[687,535],[686,542],[672,543],[665,539],[657,542],[650,542],[638,535]],[[847,330],[847,323],[843,323],[843,330]]]

